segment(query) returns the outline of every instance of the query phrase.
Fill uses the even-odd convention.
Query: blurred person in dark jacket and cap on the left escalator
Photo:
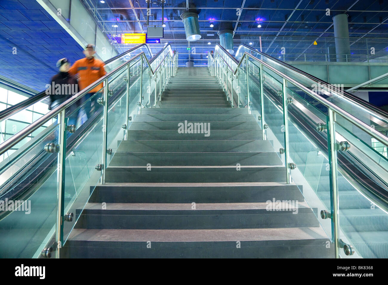
[[[70,62],[67,58],[58,60],[57,67],[59,73],[51,78],[50,84],[46,85],[46,94],[50,95],[49,110],[61,105],[63,102],[78,93],[78,81],[76,77],[69,73]],[[66,117],[68,117],[67,125],[75,125],[78,112],[74,110],[79,106],[78,102],[74,102],[66,108]]]

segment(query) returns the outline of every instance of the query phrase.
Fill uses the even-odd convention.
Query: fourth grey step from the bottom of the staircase
[[[240,169],[240,170],[237,170]],[[281,166],[108,166],[106,182],[115,183],[216,183],[216,182],[284,182],[286,169]]]

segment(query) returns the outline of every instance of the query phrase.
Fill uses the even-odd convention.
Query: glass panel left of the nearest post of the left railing
[[[44,147],[58,144],[58,130],[52,124],[0,163],[1,257],[37,258],[55,234],[58,154]]]

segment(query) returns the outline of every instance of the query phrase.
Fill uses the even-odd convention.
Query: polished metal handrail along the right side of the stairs
[[[218,48],[217,48],[218,47]],[[216,45],[216,48],[215,48],[215,53],[214,53],[214,57],[216,56],[216,54],[218,53],[218,55],[222,58],[222,60],[226,62],[226,60],[222,57],[222,55],[218,52],[218,49],[222,49],[225,54],[229,57],[229,58],[232,58],[234,60],[236,60],[231,54],[229,54],[229,52],[227,52],[223,47],[221,47],[220,45]],[[296,81],[295,79],[287,76],[286,74],[284,73],[281,73],[280,71],[278,71],[277,69],[275,69],[274,67],[270,66],[269,64],[267,64],[266,62],[258,59],[257,57],[251,55],[251,54],[248,54],[248,52],[244,52],[244,54],[241,56],[241,59],[239,61],[239,63],[237,64],[237,68],[236,70],[233,70],[229,64],[227,64],[227,66],[230,68],[230,70],[236,74],[240,65],[244,62],[244,59],[245,58],[248,58],[248,57],[251,57],[253,60],[256,60],[257,62],[259,62],[260,64],[262,64],[263,66],[267,67],[268,69],[270,69],[271,71],[273,71],[274,73],[278,74],[279,76],[281,76],[282,78],[286,79],[287,81],[289,81],[290,83],[292,83],[293,85],[297,86],[299,89],[301,89],[303,92],[307,93],[308,95],[310,95],[312,98],[314,98],[315,100],[317,100],[319,103],[321,103],[322,105],[326,106],[327,108],[333,110],[335,113],[339,114],[340,116],[343,116],[345,119],[347,119],[348,121],[350,121],[350,123],[354,124],[355,126],[357,126],[358,128],[360,128],[362,131],[365,131],[365,133],[367,133],[368,135],[372,136],[373,138],[375,138],[376,140],[378,140],[379,142],[383,143],[384,145],[387,145],[388,146],[388,137],[383,135],[382,133],[376,131],[374,128],[372,128],[371,126],[369,126],[368,124],[365,124],[363,121],[361,121],[360,119],[356,118],[355,116],[353,116],[352,114],[346,112],[345,110],[341,109],[340,107],[338,107],[337,105],[333,104],[332,102],[330,102],[329,100],[326,100],[325,98],[323,98],[322,96],[316,94],[315,92],[313,92],[312,90],[308,89],[306,86],[302,85],[301,83],[299,83],[298,81]],[[214,59],[213,59],[214,60]],[[303,74],[302,74],[303,75]]]

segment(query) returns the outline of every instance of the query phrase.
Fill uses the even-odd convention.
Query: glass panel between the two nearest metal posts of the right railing
[[[324,131],[328,117],[289,88],[286,91],[288,98],[293,99],[287,107],[289,163],[296,164],[296,168],[290,170],[291,178],[313,209],[320,225],[332,237],[331,219],[320,217],[322,210],[331,212],[331,164],[327,153],[327,132]],[[322,124],[323,131],[317,130],[318,123]]]

